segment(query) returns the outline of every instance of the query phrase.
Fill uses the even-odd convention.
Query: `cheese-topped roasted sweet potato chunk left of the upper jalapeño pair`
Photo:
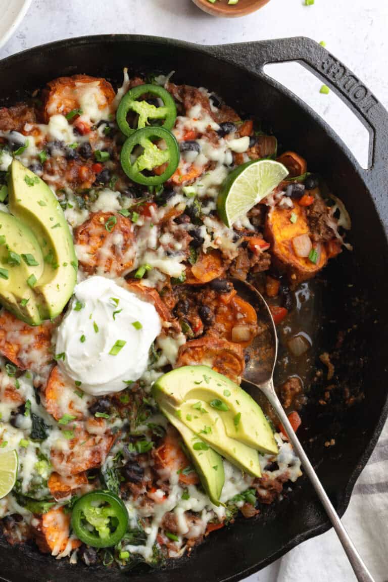
[[[52,115],[67,115],[73,109],[83,110],[86,104],[90,104],[91,109],[105,109],[114,98],[115,91],[106,79],[90,77],[87,74],[58,77],[47,83],[42,91],[45,123],[48,123]]]

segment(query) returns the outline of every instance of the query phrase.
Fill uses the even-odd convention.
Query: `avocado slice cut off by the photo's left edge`
[[[27,280],[42,275],[42,251],[29,227],[8,212],[0,212],[0,265],[0,303],[27,324],[41,324],[40,305]]]

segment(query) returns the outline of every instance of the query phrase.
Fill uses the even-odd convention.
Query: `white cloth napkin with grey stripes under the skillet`
[[[343,524],[375,582],[388,582],[388,423],[353,489]],[[292,549],[244,582],[354,582],[331,529]]]

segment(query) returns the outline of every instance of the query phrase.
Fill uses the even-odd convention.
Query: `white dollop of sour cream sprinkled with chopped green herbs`
[[[58,363],[88,394],[120,392],[143,374],[149,347],[160,332],[151,303],[111,279],[92,276],[76,285],[58,328]]]

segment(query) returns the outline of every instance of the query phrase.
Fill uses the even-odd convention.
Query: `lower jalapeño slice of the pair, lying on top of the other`
[[[173,134],[163,127],[143,127],[124,142],[120,162],[133,182],[157,186],[175,172],[179,163],[179,146]],[[159,175],[152,173],[156,168],[160,168]]]

